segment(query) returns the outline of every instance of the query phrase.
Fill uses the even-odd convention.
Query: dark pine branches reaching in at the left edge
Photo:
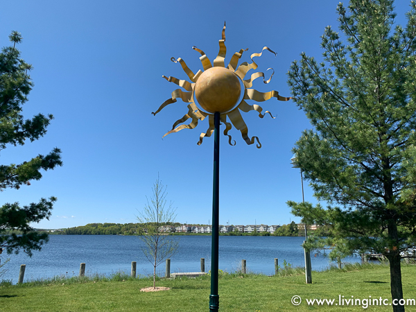
[[[20,58],[20,51],[16,49],[22,39],[20,33],[13,31],[9,39],[13,46],[4,47],[0,53],[0,150],[40,139],[53,119],[51,114],[37,114],[26,120],[21,115],[21,106],[33,87],[29,76],[32,66]],[[42,170],[62,165],[60,153],[54,148],[48,155],[37,155],[28,162],[0,165],[0,191],[19,189],[22,185],[31,185],[31,180],[40,180]],[[29,256],[32,250],[40,250],[48,236],[33,232],[30,223],[49,219],[55,200],[54,197],[41,198],[40,202],[23,207],[18,202],[0,207],[0,247],[6,248],[8,254],[23,249]],[[13,234],[10,229],[21,235]]]

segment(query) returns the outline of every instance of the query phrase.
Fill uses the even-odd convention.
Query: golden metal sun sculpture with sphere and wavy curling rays
[[[243,62],[240,66],[237,66],[239,63],[239,59],[241,55],[243,55],[244,51],[248,49],[241,49],[239,52],[234,53],[232,55],[231,60],[227,67],[225,67],[224,59],[225,53],[227,48],[225,47],[225,23],[223,27],[222,39],[219,40],[220,44],[220,51],[216,59],[214,60],[214,66],[211,64],[207,55],[205,55],[204,51],[198,49],[196,46],[193,46],[192,49],[198,51],[200,56],[200,61],[202,63],[203,71],[198,70],[195,74],[187,64],[182,60],[182,58],[171,58],[172,62],[179,62],[182,66],[182,69],[191,83],[187,80],[179,80],[175,77],[166,77],[162,76],[166,80],[171,83],[175,83],[182,87],[182,89],[176,89],[172,92],[172,97],[165,101],[156,112],[152,112],[153,115],[160,112],[164,107],[171,103],[175,103],[177,98],[181,98],[182,101],[188,104],[188,112],[184,114],[181,119],[178,119],[173,123],[172,130],[166,132],[166,135],[169,135],[173,132],[178,132],[182,129],[193,129],[198,125],[198,121],[202,121],[208,117],[209,121],[209,128],[206,132],[202,132],[200,135],[200,140],[198,141],[198,145],[202,144],[202,139],[204,137],[211,137],[212,133],[214,132],[214,113],[220,112],[220,121],[225,124],[224,135],[227,135],[228,142],[230,145],[232,144],[232,137],[228,135],[229,130],[231,130],[232,125],[241,132],[241,136],[243,137],[244,141],[247,144],[254,144],[254,140],[257,141],[257,148],[261,148],[261,144],[258,137],[249,137],[248,136],[248,128],[245,124],[243,117],[241,116],[241,112],[250,112],[254,110],[259,113],[259,117],[263,118],[266,113],[272,114],[268,111],[261,114],[263,108],[259,105],[249,105],[245,100],[254,100],[257,102],[267,101],[270,98],[277,98],[279,101],[288,101],[291,97],[284,97],[279,96],[279,92],[277,91],[270,91],[270,92],[259,92],[256,89],[250,89],[252,87],[253,81],[259,77],[263,78],[264,83],[270,83],[272,79],[273,73],[268,80],[265,80],[264,73],[257,72],[252,73],[249,79],[244,80],[246,73],[250,71],[250,69],[257,69],[257,64],[254,62],[254,57],[260,57],[264,50],[268,50],[271,53],[274,53],[270,50],[267,46],[263,47],[260,53],[253,53],[250,56],[252,62],[249,64],[248,62]],[[241,83],[244,87],[244,95],[241,101]],[[198,107],[196,105],[196,100],[198,100]],[[231,121],[231,123],[228,122]],[[274,118],[272,116],[272,118]],[[189,124],[182,124],[188,119],[191,119]]]

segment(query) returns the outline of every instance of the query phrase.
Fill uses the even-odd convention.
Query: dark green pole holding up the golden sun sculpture
[[[218,227],[220,222],[220,113],[214,114],[214,182],[212,195],[212,236],[211,236],[211,295],[209,311],[220,307],[218,295]]]

